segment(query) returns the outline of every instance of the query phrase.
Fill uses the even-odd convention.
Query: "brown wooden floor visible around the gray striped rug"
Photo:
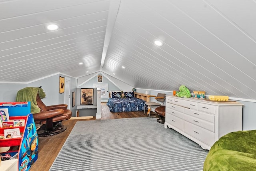
[[[101,115],[101,119],[148,117],[144,114],[144,111],[112,113],[106,103],[101,103]],[[38,159],[32,165],[30,171],[48,171],[76,122],[88,120],[96,120],[96,118],[62,121],[62,124],[67,127],[66,131],[49,137],[39,137]]]

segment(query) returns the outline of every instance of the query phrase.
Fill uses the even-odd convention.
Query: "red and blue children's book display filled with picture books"
[[[30,102],[0,103],[0,118],[0,136],[3,137],[0,147],[10,146],[8,151],[0,153],[1,159],[17,156],[17,170],[29,170],[38,158],[38,135]]]

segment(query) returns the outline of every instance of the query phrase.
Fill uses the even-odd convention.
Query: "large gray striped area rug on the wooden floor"
[[[207,154],[156,118],[78,121],[50,171],[202,171]]]

